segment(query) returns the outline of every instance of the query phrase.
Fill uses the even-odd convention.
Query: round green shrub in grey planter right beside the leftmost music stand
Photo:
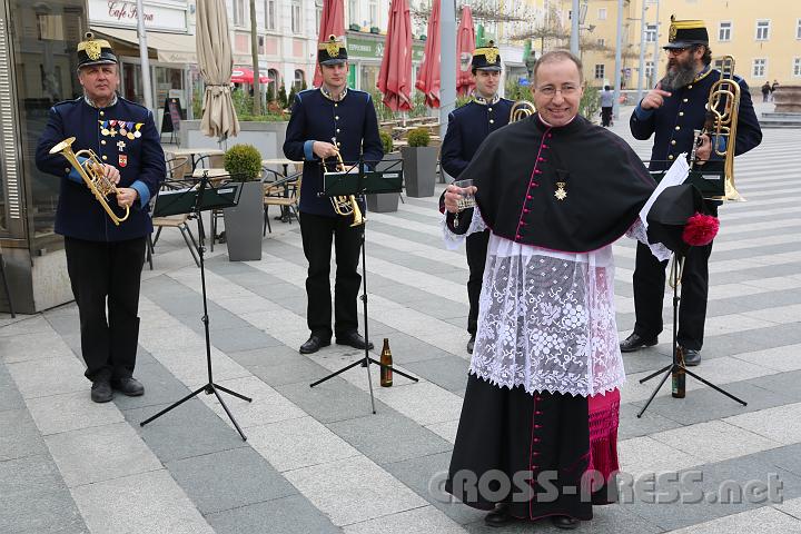
[[[261,154],[253,145],[234,145],[226,151],[224,165],[231,180],[243,182],[239,204],[222,210],[228,259],[259,260],[264,219]]]

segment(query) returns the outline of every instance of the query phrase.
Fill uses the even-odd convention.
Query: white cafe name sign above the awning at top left
[[[187,2],[160,0],[144,2],[145,28],[148,30],[187,31]],[[89,0],[91,24],[137,28],[136,0]]]

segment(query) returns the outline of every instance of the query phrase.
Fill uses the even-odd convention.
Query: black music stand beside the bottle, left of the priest
[[[403,187],[403,160],[383,160],[387,167],[384,170],[373,170],[382,161],[365,161],[359,160],[355,164],[345,165],[344,171],[337,172],[324,172],[323,174],[323,196],[326,197],[338,197],[338,196],[350,196],[354,195],[362,198],[364,194],[373,192],[400,192]],[[325,167],[324,167],[325,169]],[[370,376],[369,365],[375,364],[378,367],[387,368],[393,374],[400,375],[408,378],[412,382],[418,382],[412,375],[403,373],[393,368],[390,365],[384,365],[379,360],[372,358],[369,355],[369,328],[368,328],[368,314],[367,314],[367,253],[366,253],[366,239],[365,231],[367,227],[367,219],[364,222],[365,228],[362,231],[362,303],[363,314],[365,324],[365,355],[364,358],[359,358],[356,362],[346,365],[339,370],[332,373],[317,382],[309,384],[309,387],[323,384],[326,380],[334,378],[348,369],[362,365],[367,368],[367,384],[369,384],[370,392],[370,406],[375,414],[375,395],[373,394],[373,377]]]

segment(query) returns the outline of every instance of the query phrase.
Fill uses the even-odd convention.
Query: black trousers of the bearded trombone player
[[[709,257],[712,244],[691,247],[684,259],[679,304],[678,342],[684,348],[701,350],[706,297],[709,295]],[[634,267],[634,333],[651,338],[662,332],[662,306],[668,261],[659,261],[642,243],[637,243]]]

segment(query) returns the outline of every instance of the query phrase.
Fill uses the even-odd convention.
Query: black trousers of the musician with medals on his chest
[[[67,270],[80,316],[85,375],[92,382],[134,374],[146,239],[105,243],[65,237]]]

